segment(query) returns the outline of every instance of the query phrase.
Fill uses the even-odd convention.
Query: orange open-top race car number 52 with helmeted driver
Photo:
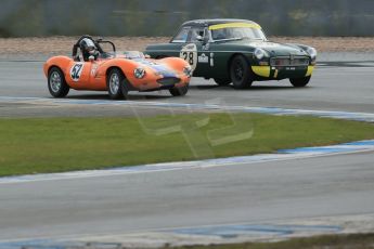
[[[103,43],[113,48],[105,52]],[[117,53],[111,41],[82,36],[73,47],[73,58],[53,56],[43,66],[52,96],[64,97],[69,89],[108,91],[111,99],[126,99],[129,91],[168,89],[185,95],[192,76],[189,63],[179,57],[147,58],[142,52]]]

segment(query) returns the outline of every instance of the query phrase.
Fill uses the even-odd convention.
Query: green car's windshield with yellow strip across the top
[[[256,24],[220,24],[212,25],[209,29],[214,41],[241,39],[267,40],[261,27]]]

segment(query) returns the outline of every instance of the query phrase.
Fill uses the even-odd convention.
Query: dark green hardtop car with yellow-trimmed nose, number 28
[[[195,19],[184,23],[165,44],[145,49],[151,57],[180,56],[193,76],[212,78],[218,84],[231,82],[243,89],[256,80],[289,79],[294,87],[308,84],[315,49],[304,44],[271,42],[262,28],[245,19]]]

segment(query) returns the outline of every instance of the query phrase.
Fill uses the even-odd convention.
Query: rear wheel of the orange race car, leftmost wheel
[[[59,67],[52,67],[48,73],[48,90],[54,97],[65,97],[70,90],[64,73]]]

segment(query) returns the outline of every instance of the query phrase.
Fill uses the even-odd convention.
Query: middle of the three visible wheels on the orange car
[[[106,77],[107,93],[112,100],[127,99],[127,80],[124,73],[113,68]]]

